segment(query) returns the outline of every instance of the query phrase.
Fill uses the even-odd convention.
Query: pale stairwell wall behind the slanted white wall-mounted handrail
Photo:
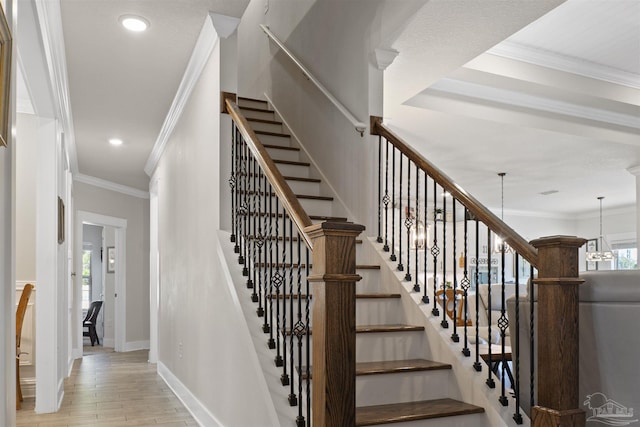
[[[326,175],[350,219],[370,230],[377,188],[377,137],[361,137],[259,28],[266,24],[360,121],[382,115],[382,71],[371,60],[375,48],[406,19],[417,2],[382,0],[252,1],[238,29],[238,93],[267,93],[311,158]],[[400,18],[402,17],[402,19]],[[384,18],[384,19],[383,19]],[[359,185],[354,185],[358,182]],[[349,212],[350,211],[350,212]]]

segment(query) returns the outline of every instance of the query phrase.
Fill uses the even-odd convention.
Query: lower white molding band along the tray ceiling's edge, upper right
[[[460,95],[480,101],[496,102],[514,107],[522,107],[546,113],[562,114],[580,119],[640,129],[640,117],[635,115],[616,113],[594,107],[586,107],[584,105],[558,101],[508,89],[500,89],[478,83],[466,82],[463,80],[444,78],[427,90]]]

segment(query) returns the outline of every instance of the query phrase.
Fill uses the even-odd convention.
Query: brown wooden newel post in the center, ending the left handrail
[[[314,427],[356,421],[356,237],[363,230],[344,222],[305,229],[313,241]]]

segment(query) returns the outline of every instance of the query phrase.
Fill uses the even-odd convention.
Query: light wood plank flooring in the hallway
[[[34,398],[25,398],[17,427],[197,426],[147,356],[146,350],[85,353],[65,380],[60,411],[35,414]]]

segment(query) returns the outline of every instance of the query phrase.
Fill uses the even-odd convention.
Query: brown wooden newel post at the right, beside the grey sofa
[[[572,236],[543,237],[538,249],[538,399],[534,427],[583,427],[578,396],[578,248]]]

